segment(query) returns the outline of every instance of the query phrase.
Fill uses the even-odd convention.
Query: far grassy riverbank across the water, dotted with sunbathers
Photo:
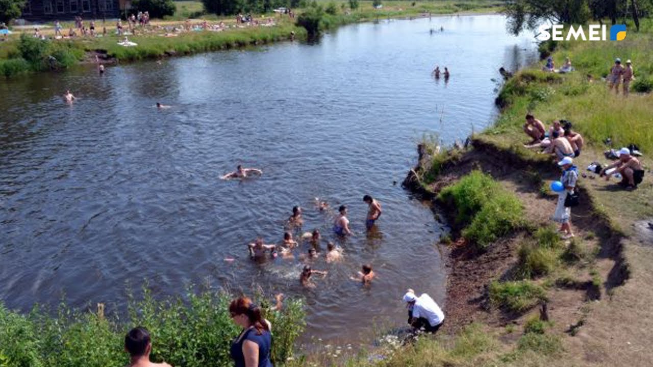
[[[340,25],[356,22],[366,22],[382,18],[404,18],[413,16],[428,16],[429,14],[454,14],[456,12],[496,12],[500,10],[500,1],[496,0],[460,0],[460,1],[387,1],[383,8],[372,7],[370,1],[360,2],[356,9],[349,8],[349,2],[321,1],[308,8],[295,9],[298,17],[304,12],[312,12],[319,8],[319,29],[328,31]],[[0,75],[16,76],[26,72],[67,69],[84,61],[93,61],[94,54],[99,54],[103,62],[136,61],[167,56],[178,56],[242,48],[281,40],[305,40],[306,29],[296,24],[296,19],[276,13],[263,14],[257,17],[261,24],[272,19],[274,25],[236,27],[233,17],[217,17],[202,14],[200,4],[187,1],[178,5],[178,16],[167,20],[154,20],[145,29],[136,28],[135,35],[129,35],[129,40],[138,46],[124,47],[118,44],[122,36],[116,35],[116,24],[96,22],[97,31],[106,27],[104,37],[74,37],[61,40],[27,40],[21,41],[20,32],[16,31],[7,40],[0,42]],[[311,13],[312,14],[312,13]],[[182,15],[197,16],[190,21],[191,27],[199,27],[202,20],[210,25],[223,22],[225,29],[221,31],[185,31]],[[183,17],[182,17],[183,18]],[[64,23],[63,32],[73,24]],[[125,29],[127,24],[125,23]],[[180,31],[173,31],[180,29]],[[46,37],[54,36],[54,29],[42,28]],[[25,30],[25,35],[32,38],[33,29]],[[166,33],[174,36],[165,37]],[[31,41],[31,42],[30,42]],[[25,47],[29,42],[29,47]],[[54,57],[52,59],[50,56]]]

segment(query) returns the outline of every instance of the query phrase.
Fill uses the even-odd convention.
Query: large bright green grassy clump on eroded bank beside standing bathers
[[[455,208],[462,236],[481,250],[523,225],[519,199],[478,170],[442,189],[438,200]]]

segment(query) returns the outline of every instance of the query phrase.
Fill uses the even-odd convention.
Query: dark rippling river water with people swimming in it
[[[441,225],[400,186],[416,143],[483,129],[496,116],[498,69],[533,57],[530,39],[507,35],[502,16],[451,16],[349,25],[318,44],[120,65],[104,76],[80,68],[2,80],[0,299],[22,310],[62,296],[120,309],[126,284],[143,279],[161,296],[188,283],[251,295],[257,283],[268,295],[305,296],[306,335],[325,341],[403,325],[407,287],[445,304]],[[449,83],[430,77],[436,64],[449,67]],[[72,106],[65,89],[78,97]],[[219,180],[237,164],[264,174]],[[384,211],[370,234],[365,194]],[[314,261],[328,276],[302,289],[301,261],[256,264],[246,244],[279,242],[299,205],[303,230],[320,229],[325,249],[332,217],[316,197],[347,204],[355,236],[339,242],[342,263]],[[378,274],[371,287],[349,280],[362,263]]]

